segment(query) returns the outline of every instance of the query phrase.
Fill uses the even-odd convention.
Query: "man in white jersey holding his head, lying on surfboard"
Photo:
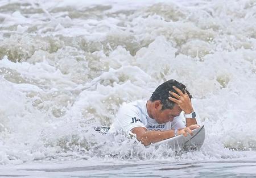
[[[191,130],[199,125],[191,98],[185,85],[168,80],[155,89],[150,100],[123,105],[109,133],[135,134],[144,146],[176,135],[192,134]]]

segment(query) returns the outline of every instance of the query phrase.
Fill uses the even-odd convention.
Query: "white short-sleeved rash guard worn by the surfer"
[[[174,118],[174,121],[159,124],[148,116],[147,101],[135,101],[125,104],[118,110],[114,123],[110,127],[109,133],[117,131],[125,131],[131,134],[131,130],[135,127],[145,127],[147,130],[171,130],[185,127],[184,112]]]

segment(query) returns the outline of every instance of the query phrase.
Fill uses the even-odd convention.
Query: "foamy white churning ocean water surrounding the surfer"
[[[256,177],[256,1],[0,1],[0,177]],[[110,126],[174,78],[200,151]]]

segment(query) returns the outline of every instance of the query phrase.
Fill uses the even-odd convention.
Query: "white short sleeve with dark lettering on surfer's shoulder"
[[[142,123],[141,111],[136,106],[122,106],[117,113],[118,125],[127,133],[135,127],[145,127]],[[146,127],[145,127],[146,128]]]

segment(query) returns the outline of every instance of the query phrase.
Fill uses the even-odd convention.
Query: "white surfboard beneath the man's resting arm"
[[[167,145],[168,148],[176,151],[192,151],[199,150],[204,144],[205,139],[205,129],[204,126],[199,127],[198,129],[192,130],[193,135],[188,134],[187,137],[183,135],[178,135],[161,142],[150,144],[148,147],[159,147],[160,145]]]

